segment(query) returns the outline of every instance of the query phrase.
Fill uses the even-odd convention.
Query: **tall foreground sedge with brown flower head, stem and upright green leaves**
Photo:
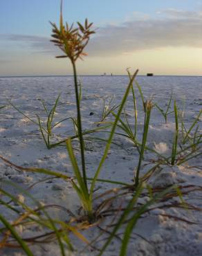
[[[102,165],[105,159],[107,158],[107,154],[109,152],[111,142],[113,139],[113,134],[115,133],[116,126],[118,123],[118,119],[120,117],[124,104],[127,100],[127,95],[131,90],[131,85],[138,73],[138,70],[134,73],[134,75],[131,77],[129,81],[129,85],[127,86],[127,90],[125,92],[125,95],[122,98],[122,102],[118,109],[118,116],[116,117],[116,120],[113,123],[113,126],[111,128],[109,139],[107,141],[107,145],[104,150],[104,155],[101,158],[101,161],[100,161],[100,164],[98,165],[97,170],[95,171],[95,176],[92,179],[91,188],[89,189],[87,185],[87,175],[86,175],[86,166],[85,166],[84,138],[82,134],[82,117],[81,117],[81,111],[80,111],[80,98],[79,98],[79,89],[78,89],[78,83],[77,83],[76,62],[78,59],[81,59],[82,56],[86,55],[86,53],[84,53],[84,48],[88,44],[91,35],[93,35],[95,31],[91,30],[91,26],[93,24],[92,23],[89,24],[87,19],[85,20],[84,26],[82,26],[80,22],[77,22],[77,28],[73,28],[73,25],[68,26],[67,23],[66,25],[64,25],[63,17],[62,17],[62,1],[61,1],[61,8],[60,8],[59,28],[57,28],[57,26],[51,22],[50,24],[53,26],[53,34],[52,34],[53,39],[51,39],[51,42],[53,42],[55,46],[58,46],[60,50],[62,50],[62,52],[64,53],[64,55],[57,56],[57,57],[59,58],[67,57],[71,61],[71,65],[73,67],[75,101],[76,101],[76,107],[77,107],[77,120],[75,122],[75,125],[77,128],[77,134],[80,141],[80,156],[81,156],[82,172],[80,171],[80,167],[77,163],[77,159],[75,158],[75,154],[73,152],[71,138],[68,138],[68,140],[66,140],[66,148],[68,150],[68,155],[71,159],[71,163],[73,165],[73,171],[75,173],[75,179],[77,181],[77,183],[75,183],[75,181],[72,180],[73,188],[77,192],[80,198],[80,201],[82,202],[84,212],[88,216],[89,221],[93,221],[92,202],[93,202],[93,191],[95,188],[95,183],[100,174]]]

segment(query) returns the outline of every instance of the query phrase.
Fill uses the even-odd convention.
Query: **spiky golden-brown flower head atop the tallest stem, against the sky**
[[[80,22],[77,22],[77,28],[73,28],[73,24],[68,26],[67,23],[64,26],[61,1],[59,28],[51,22],[50,24],[53,26],[53,34],[51,35],[53,39],[50,42],[55,43],[55,46],[64,52],[64,55],[57,57],[68,57],[71,62],[75,62],[77,58],[82,59],[82,55],[86,55],[84,48],[88,44],[91,34],[95,33],[91,30],[93,23],[89,24],[86,19],[84,26]]]

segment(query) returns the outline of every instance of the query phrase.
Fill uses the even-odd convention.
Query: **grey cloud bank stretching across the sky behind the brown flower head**
[[[35,52],[58,54],[48,37],[8,35],[6,39],[28,46]],[[134,19],[122,24],[99,28],[87,51],[93,56],[109,56],[168,46],[202,48],[201,11],[168,9],[158,12],[155,19],[134,15]]]

